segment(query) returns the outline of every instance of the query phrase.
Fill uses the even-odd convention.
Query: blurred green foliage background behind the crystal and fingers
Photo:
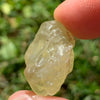
[[[42,22],[53,19],[63,0],[0,0],[0,100],[31,90],[24,54]],[[74,70],[56,96],[100,100],[100,39],[76,39]]]

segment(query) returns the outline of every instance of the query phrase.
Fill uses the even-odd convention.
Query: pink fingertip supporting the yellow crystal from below
[[[49,97],[49,96],[42,97],[35,95],[35,93],[33,93],[32,91],[22,90],[11,95],[8,100],[67,100],[67,99],[60,97]]]

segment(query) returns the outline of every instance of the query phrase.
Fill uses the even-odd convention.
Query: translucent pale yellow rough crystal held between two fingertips
[[[25,54],[25,77],[37,95],[54,95],[73,69],[75,41],[57,21],[44,22]]]

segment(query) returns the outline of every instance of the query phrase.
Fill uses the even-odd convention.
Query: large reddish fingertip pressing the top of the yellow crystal
[[[54,17],[77,38],[100,37],[100,0],[66,0]]]

